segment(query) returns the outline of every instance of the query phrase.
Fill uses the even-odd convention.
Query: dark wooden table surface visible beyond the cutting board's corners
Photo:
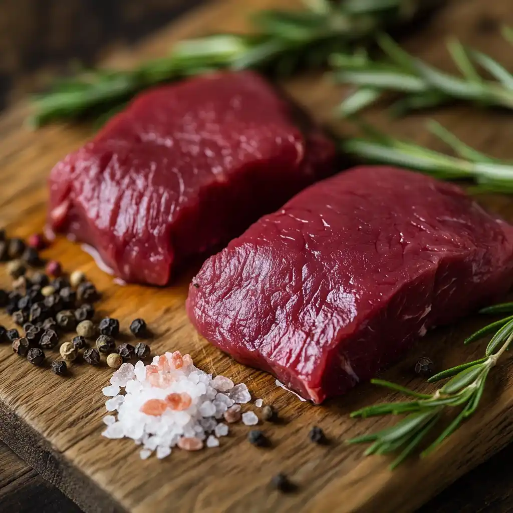
[[[481,1],[482,29],[494,31],[500,21],[487,18],[486,0]],[[45,84],[73,58],[92,63],[109,49],[130,44],[200,2],[0,0],[0,110],[34,84]],[[449,486],[419,513],[512,511],[512,459],[513,445]],[[0,511],[71,513],[80,509],[0,442]]]

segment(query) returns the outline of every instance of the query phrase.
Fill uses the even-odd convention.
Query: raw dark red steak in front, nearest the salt
[[[396,359],[427,329],[497,300],[513,227],[458,187],[390,167],[315,184],[194,278],[198,331],[315,403]]]

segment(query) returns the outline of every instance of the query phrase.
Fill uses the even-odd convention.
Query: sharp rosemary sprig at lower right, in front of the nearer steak
[[[506,303],[481,310],[483,313],[497,311],[513,312],[513,304]],[[499,321],[498,321],[499,322]],[[492,323],[470,336],[465,343],[481,338],[489,332],[490,326],[497,327],[498,322]],[[424,394],[384,380],[371,380],[371,383],[381,385],[392,390],[399,390],[413,399],[393,403],[367,406],[353,411],[351,417],[371,417],[378,415],[402,415],[406,417],[396,424],[380,431],[352,438],[349,444],[371,443],[365,455],[397,453],[399,455],[390,467],[397,467],[425,440],[428,433],[439,423],[442,416],[453,408],[459,408],[458,415],[450,422],[440,435],[432,441],[421,453],[421,458],[435,450],[446,440],[460,424],[468,419],[478,408],[483,394],[488,372],[494,367],[502,354],[513,341],[513,317],[500,321],[500,328],[491,338],[485,356],[479,360],[468,362],[439,372],[428,381],[434,383],[450,378],[442,387],[431,394]]]

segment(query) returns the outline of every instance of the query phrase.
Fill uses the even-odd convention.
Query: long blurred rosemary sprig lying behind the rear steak
[[[217,34],[177,44],[166,57],[133,70],[91,70],[35,98],[34,126],[97,116],[155,84],[215,69],[255,68],[272,76],[326,63],[334,51],[371,41],[433,0],[305,0],[303,10],[257,13],[256,34]]]

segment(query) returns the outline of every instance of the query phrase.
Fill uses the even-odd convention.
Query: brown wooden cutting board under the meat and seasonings
[[[141,47],[112,55],[108,62],[129,66],[142,58],[163,55],[173,41],[186,36],[243,29],[247,14],[256,9],[295,3],[213,3]],[[444,38],[455,33],[513,69],[513,52],[500,40],[493,24],[478,24],[483,16],[513,24],[508,4],[504,0],[449,2],[405,43],[418,55],[447,67]],[[331,124],[332,109],[346,92],[320,75],[304,77],[286,87],[315,117]],[[43,228],[49,170],[91,133],[88,127],[71,126],[30,132],[22,126],[27,112],[25,104],[19,105],[0,120],[0,225],[19,236]],[[394,122],[377,111],[369,116],[397,135],[434,144],[423,129],[423,116]],[[455,107],[440,112],[437,119],[480,150],[513,157],[511,114]],[[348,126],[337,128],[342,133],[349,131]],[[513,220],[512,198],[483,197],[480,201]],[[125,331],[133,318],[144,317],[156,333],[152,343],[155,353],[189,352],[207,372],[247,383],[253,398],[274,404],[283,419],[277,425],[261,426],[272,441],[270,449],[250,446],[245,439],[247,428],[241,425],[233,428],[219,448],[198,453],[176,450],[163,461],[154,457],[142,461],[139,447],[131,440],[107,440],[100,435],[106,413],[101,389],[110,377],[107,367],[77,363],[71,366],[71,376],[62,379],[48,368],[23,362],[9,346],[0,347],[0,438],[86,511],[411,511],[507,444],[513,433],[513,371],[508,369],[506,358],[492,373],[475,417],[431,457],[409,460],[391,472],[388,459],[364,458],[362,447],[348,447],[344,440],[385,426],[388,419],[357,421],[348,413],[389,400],[392,394],[361,385],[339,400],[313,406],[278,388],[267,374],[234,363],[198,337],[186,318],[187,284],[195,268],[166,289],[123,287],[98,270],[80,247],[65,239],[57,240],[45,256],[59,259],[68,271],[85,271],[103,293],[102,313],[119,318]],[[7,286],[4,272],[0,275],[0,286]],[[0,318],[2,324],[10,326],[9,322]],[[482,319],[467,319],[431,333],[383,377],[428,389],[413,375],[416,359],[427,355],[439,368],[447,368],[481,356],[484,344],[464,348],[462,340],[482,324]],[[323,427],[331,440],[329,445],[309,442],[312,425]],[[269,487],[270,478],[280,471],[298,484],[297,492],[282,495]]]

